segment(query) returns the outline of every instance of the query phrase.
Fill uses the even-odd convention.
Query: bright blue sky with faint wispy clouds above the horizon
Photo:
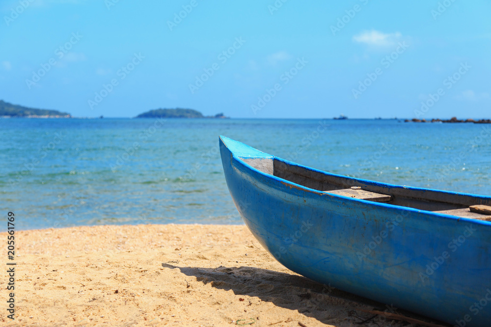
[[[4,0],[0,99],[78,117],[489,118],[490,12],[481,0]]]

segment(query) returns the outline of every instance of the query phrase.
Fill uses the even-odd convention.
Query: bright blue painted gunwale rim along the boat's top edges
[[[425,215],[428,215],[428,216],[436,216],[436,217],[440,217],[440,218],[450,218],[450,219],[457,220],[457,221],[464,220],[464,222],[469,222],[469,223],[474,223],[474,224],[484,225],[484,226],[491,226],[491,221],[485,221],[485,220],[479,220],[479,219],[473,219],[473,218],[453,216],[453,215],[449,215],[449,214],[445,214],[445,213],[439,213],[439,212],[435,212],[435,211],[416,209],[416,208],[412,208],[412,207],[409,207],[409,206],[402,206],[402,205],[396,205],[396,204],[390,204],[390,203],[383,203],[383,202],[375,202],[375,201],[368,201],[368,200],[363,200],[363,199],[350,198],[350,197],[346,197],[346,196],[339,195],[339,194],[328,193],[327,191],[315,190],[315,189],[312,189],[310,187],[307,187],[307,186],[300,185],[300,184],[297,184],[295,182],[292,182],[292,181],[290,181],[288,179],[284,179],[284,178],[281,178],[281,177],[278,177],[278,176],[274,176],[272,174],[264,173],[264,172],[258,170],[257,168],[254,168],[253,166],[251,166],[250,164],[248,164],[246,161],[244,161],[242,159],[260,159],[260,158],[272,159],[272,160],[276,159],[276,160],[282,161],[282,162],[284,162],[286,164],[289,164],[289,165],[292,165],[292,166],[301,167],[301,168],[305,168],[307,170],[311,170],[311,171],[314,171],[314,172],[317,172],[317,173],[321,173],[321,174],[324,174],[324,175],[327,175],[327,176],[342,177],[342,178],[347,178],[347,179],[351,179],[351,180],[355,180],[355,181],[362,181],[362,182],[365,182],[365,183],[368,183],[368,184],[374,184],[376,186],[384,186],[384,187],[389,187],[389,188],[410,189],[410,190],[414,190],[414,191],[430,191],[430,192],[443,193],[443,194],[449,194],[449,195],[469,196],[469,197],[472,197],[472,198],[482,198],[482,199],[486,199],[486,200],[491,200],[491,196],[483,196],[483,195],[471,194],[471,193],[463,193],[463,192],[452,192],[452,191],[436,190],[436,189],[413,187],[413,186],[406,186],[406,185],[402,186],[402,185],[395,185],[395,184],[377,182],[377,181],[373,181],[373,180],[369,180],[369,179],[363,179],[363,178],[356,178],[356,177],[351,177],[351,176],[344,176],[344,175],[333,174],[333,173],[329,173],[329,172],[326,172],[326,171],[318,170],[318,169],[315,169],[315,168],[312,168],[312,167],[304,166],[304,165],[301,165],[301,164],[296,163],[296,162],[293,162],[293,161],[289,161],[289,160],[286,160],[286,159],[282,159],[282,158],[276,157],[274,155],[271,155],[271,154],[268,154],[266,152],[262,152],[260,150],[257,150],[257,149],[255,149],[253,147],[250,147],[250,146],[248,146],[248,145],[246,145],[246,144],[244,144],[242,142],[235,141],[233,139],[230,139],[230,138],[225,137],[225,138],[227,138],[227,139],[229,139],[229,140],[231,140],[233,142],[241,143],[241,144],[243,144],[244,146],[246,146],[248,148],[251,148],[251,149],[253,149],[255,151],[260,151],[260,152],[262,152],[262,153],[265,154],[265,156],[239,156],[234,151],[231,151],[229,149],[229,147],[227,146],[227,144],[223,141],[222,137],[224,137],[224,136],[221,136],[221,135],[219,136],[220,141],[228,149],[228,151],[230,151],[230,153],[232,154],[232,158],[235,159],[235,161],[237,163],[239,163],[240,165],[244,166],[245,168],[249,169],[250,171],[252,171],[252,172],[254,172],[256,174],[259,174],[261,176],[264,176],[265,178],[269,178],[269,179],[272,179],[272,180],[274,180],[276,182],[279,182],[283,186],[290,186],[290,188],[296,188],[296,189],[299,189],[301,191],[307,191],[309,193],[314,193],[314,194],[317,194],[317,195],[320,195],[320,196],[326,196],[327,195],[327,196],[330,196],[330,197],[337,197],[337,198],[343,199],[345,201],[358,201],[360,203],[369,204],[369,205],[372,205],[372,206],[379,206],[381,208],[407,210],[409,212],[422,213],[422,214],[425,214]],[[421,199],[421,198],[411,198],[411,199],[425,200],[425,199]],[[444,202],[444,203],[452,203],[452,202]]]

